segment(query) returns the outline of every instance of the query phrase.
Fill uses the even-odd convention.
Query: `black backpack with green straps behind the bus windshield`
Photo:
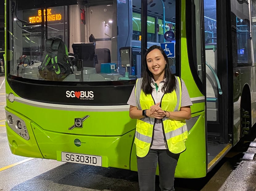
[[[49,38],[46,41],[42,64],[38,66],[40,76],[46,80],[61,81],[73,73],[70,66],[74,71],[65,43],[61,38]]]

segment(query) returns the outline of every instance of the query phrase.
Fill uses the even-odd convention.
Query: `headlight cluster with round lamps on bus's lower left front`
[[[6,119],[9,127],[22,138],[29,140],[27,126],[24,120],[20,119],[19,117],[17,117],[16,115],[13,115],[8,111],[5,111],[5,113],[7,116]]]

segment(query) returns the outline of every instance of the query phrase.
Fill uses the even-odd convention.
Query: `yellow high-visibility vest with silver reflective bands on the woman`
[[[176,77],[176,88],[171,93],[164,94],[161,99],[161,108],[165,111],[180,111],[181,105],[181,81]],[[150,109],[155,105],[151,94],[145,94],[141,89],[142,78],[137,79],[135,86],[136,106],[139,110]],[[144,117],[137,119],[134,143],[138,157],[145,157],[152,143],[155,118]],[[185,142],[188,138],[188,130],[185,120],[174,120],[164,117],[162,120],[164,137],[170,152],[178,154],[186,149]]]

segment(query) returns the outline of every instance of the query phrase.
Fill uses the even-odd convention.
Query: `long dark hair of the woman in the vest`
[[[162,87],[162,91],[164,93],[171,93],[176,88],[176,79],[175,79],[175,76],[170,71],[168,57],[166,56],[163,49],[157,45],[151,46],[144,55],[144,63],[143,64],[145,65],[146,70],[142,73],[143,79],[142,79],[141,88],[145,94],[151,94],[153,91],[153,88],[151,87],[153,74],[149,71],[149,69],[147,67],[147,58],[146,57],[147,57],[148,53],[150,53],[154,49],[160,50],[160,52],[163,54],[163,57],[166,61],[166,65],[164,68],[164,78],[166,78],[166,81]]]

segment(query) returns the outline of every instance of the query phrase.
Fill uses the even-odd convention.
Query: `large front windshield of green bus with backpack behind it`
[[[149,11],[157,13],[162,3],[155,1]],[[137,1],[12,0],[7,7],[7,49],[12,52],[7,77],[71,82],[141,77]],[[167,8],[173,11],[164,18],[160,13],[147,18],[148,47],[165,42],[165,31],[175,33],[175,4]],[[173,67],[175,58],[171,61]]]

